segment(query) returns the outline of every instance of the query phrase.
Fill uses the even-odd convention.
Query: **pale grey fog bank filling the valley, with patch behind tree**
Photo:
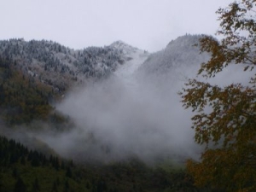
[[[193,113],[182,107],[177,95],[188,78],[196,77],[200,67],[200,60],[189,65],[197,55],[187,56],[190,59],[179,57],[186,59],[185,65],[161,69],[166,73],[150,74],[143,73],[147,66],[141,66],[148,55],[135,53],[134,59],[120,66],[110,78],[69,91],[56,106],[73,120],[70,131],[31,132],[31,136],[47,143],[58,154],[80,162],[132,157],[146,162],[198,159],[203,146],[194,142],[195,132],[190,128]],[[210,81],[224,85],[247,82],[249,77],[236,65]]]

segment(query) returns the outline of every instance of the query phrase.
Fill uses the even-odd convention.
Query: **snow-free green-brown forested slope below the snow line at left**
[[[51,88],[15,69],[12,61],[0,57],[0,115],[9,125],[47,119],[52,107]]]

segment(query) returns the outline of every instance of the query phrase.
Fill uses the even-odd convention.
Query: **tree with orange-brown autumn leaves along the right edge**
[[[207,145],[201,161],[187,163],[197,186],[218,191],[256,190],[255,8],[256,0],[241,0],[218,9],[221,40],[204,36],[200,41],[201,52],[207,51],[211,57],[201,64],[199,75],[211,79],[225,67],[240,65],[241,75],[250,80],[221,86],[189,79],[181,92],[183,106],[195,112],[195,142]]]

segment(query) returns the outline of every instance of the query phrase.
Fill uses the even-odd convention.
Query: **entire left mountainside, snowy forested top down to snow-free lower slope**
[[[53,103],[71,87],[108,77],[133,49],[122,42],[74,50],[46,40],[0,41],[0,116],[9,125],[63,120]]]

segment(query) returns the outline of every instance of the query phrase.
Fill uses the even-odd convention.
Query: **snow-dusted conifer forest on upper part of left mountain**
[[[0,56],[15,62],[25,75],[39,79],[60,92],[85,79],[100,79],[113,73],[125,61],[131,60],[131,50],[125,43],[105,47],[69,49],[52,41],[29,42],[24,39],[0,41]]]

